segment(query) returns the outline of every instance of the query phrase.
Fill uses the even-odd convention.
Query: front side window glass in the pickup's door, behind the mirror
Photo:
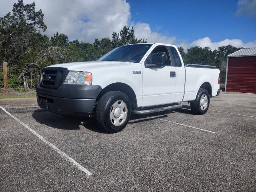
[[[170,58],[168,51],[165,46],[157,46],[150,53],[148,58],[145,61],[146,64],[157,64],[158,68],[163,66],[170,66]]]

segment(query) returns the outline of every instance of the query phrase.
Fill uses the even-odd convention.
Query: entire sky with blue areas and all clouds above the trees
[[[57,31],[94,42],[134,26],[137,38],[218,49],[231,44],[256,47],[256,0],[24,0],[42,9],[49,38]],[[0,16],[18,0],[0,0]]]

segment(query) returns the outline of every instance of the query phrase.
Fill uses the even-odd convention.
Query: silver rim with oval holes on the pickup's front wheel
[[[110,121],[114,126],[122,125],[127,118],[127,105],[123,100],[117,100],[110,108]]]

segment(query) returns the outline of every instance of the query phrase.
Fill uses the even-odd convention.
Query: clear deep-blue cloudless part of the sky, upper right
[[[192,42],[208,36],[214,42],[226,38],[256,40],[256,15],[237,16],[237,0],[128,2],[134,22],[148,23],[153,31],[177,39]]]

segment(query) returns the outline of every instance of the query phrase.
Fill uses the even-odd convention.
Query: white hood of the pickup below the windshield
[[[130,66],[130,62],[120,62],[120,61],[89,61],[89,62],[73,62],[73,63],[62,63],[51,65],[48,67],[63,67],[68,68],[69,71],[87,71],[92,72],[94,69],[98,68],[110,68],[110,67],[120,67],[120,66]]]

